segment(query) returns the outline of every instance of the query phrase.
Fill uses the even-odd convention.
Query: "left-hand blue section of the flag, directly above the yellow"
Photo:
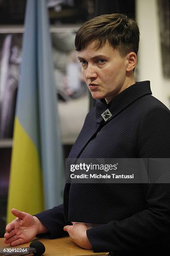
[[[29,1],[23,36],[21,77],[17,98],[16,115],[33,143],[39,148],[38,94],[37,94],[37,23],[36,1]]]

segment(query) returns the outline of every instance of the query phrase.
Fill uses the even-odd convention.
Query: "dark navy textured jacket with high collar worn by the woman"
[[[170,110],[151,94],[145,81],[108,105],[97,100],[69,158],[170,158]],[[107,108],[112,117],[105,122]],[[66,184],[64,214],[60,205],[36,216],[49,230],[39,235],[46,238],[65,236],[71,221],[100,223],[87,230],[95,252],[160,248],[170,242],[170,184]]]

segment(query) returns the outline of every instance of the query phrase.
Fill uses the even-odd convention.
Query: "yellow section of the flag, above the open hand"
[[[15,117],[14,145],[7,202],[7,223],[15,219],[12,208],[31,215],[44,210],[42,171],[37,148]]]

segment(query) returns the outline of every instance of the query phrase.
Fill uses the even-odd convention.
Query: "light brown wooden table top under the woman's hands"
[[[85,250],[77,246],[75,243],[70,241],[69,237],[57,238],[57,239],[37,239],[45,245],[44,256],[86,256],[86,255],[100,255],[107,256],[109,253],[93,253],[92,250]],[[14,246],[11,248],[21,248],[28,247],[30,243],[24,243],[20,246]],[[0,238],[0,251],[3,251],[1,248],[10,247],[4,243],[4,238]],[[31,255],[31,254],[30,254]]]

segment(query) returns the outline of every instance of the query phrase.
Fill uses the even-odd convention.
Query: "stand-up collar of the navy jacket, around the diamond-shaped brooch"
[[[115,96],[109,104],[105,102],[105,99],[96,100],[96,122],[97,123],[106,123],[115,115],[122,112],[125,108],[127,108],[130,104],[132,104],[135,100],[138,100],[140,97],[144,95],[152,94],[150,90],[150,81],[136,82],[131,85],[124,91],[120,92],[117,96]],[[109,109],[111,113],[110,119],[105,121],[102,118],[102,113],[105,110]],[[108,114],[108,113],[107,113]],[[108,116],[108,115],[107,115]]]

